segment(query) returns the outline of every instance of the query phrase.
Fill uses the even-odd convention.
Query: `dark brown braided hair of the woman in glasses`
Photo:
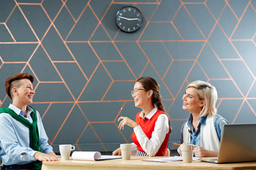
[[[136,82],[141,83],[141,85],[144,86],[144,89],[146,89],[146,91],[150,91],[150,90],[153,91],[153,95],[152,95],[153,104],[157,105],[158,110],[162,110],[163,112],[165,112],[165,109],[161,101],[162,97],[159,91],[160,85],[157,83],[157,80],[150,77],[141,77],[137,79]]]

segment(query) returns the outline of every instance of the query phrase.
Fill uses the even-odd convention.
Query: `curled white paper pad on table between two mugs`
[[[113,160],[119,159],[122,156],[112,156],[112,155],[101,155],[98,151],[74,151],[72,153],[73,160],[81,160],[81,161],[103,161],[103,160]]]

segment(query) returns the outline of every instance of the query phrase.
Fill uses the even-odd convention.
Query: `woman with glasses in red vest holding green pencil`
[[[124,129],[125,124],[133,128],[132,144],[136,146],[138,156],[164,156],[168,152],[170,119],[164,112],[159,88],[153,78],[138,79],[131,96],[135,107],[141,108],[142,111],[138,112],[135,122],[126,116],[118,118],[118,121],[122,120],[118,125],[119,129]],[[121,155],[120,148],[112,154]]]

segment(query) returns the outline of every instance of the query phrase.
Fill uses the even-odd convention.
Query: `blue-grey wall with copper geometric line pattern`
[[[118,30],[125,5],[142,11],[138,32]],[[0,0],[0,106],[11,103],[4,81],[35,76],[32,104],[49,143],[112,154],[131,142],[118,129],[120,108],[134,119],[131,90],[142,76],[157,79],[176,148],[186,85],[202,79],[218,91],[229,123],[256,123],[256,0]]]

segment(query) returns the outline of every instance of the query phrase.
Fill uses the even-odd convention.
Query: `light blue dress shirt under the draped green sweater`
[[[17,115],[24,117],[24,112],[16,106],[10,104],[10,109],[14,110]],[[28,114],[24,117],[33,123],[30,114],[34,112],[29,106],[27,106]],[[42,125],[41,116],[36,111],[37,126],[39,131],[39,138],[42,147],[42,152],[48,154],[53,151],[53,148],[48,144],[48,136]],[[0,159],[2,164],[0,165],[22,165],[35,161],[34,154],[37,151],[29,148],[29,128],[14,119],[8,113],[0,114]],[[26,153],[22,155],[22,153]]]

